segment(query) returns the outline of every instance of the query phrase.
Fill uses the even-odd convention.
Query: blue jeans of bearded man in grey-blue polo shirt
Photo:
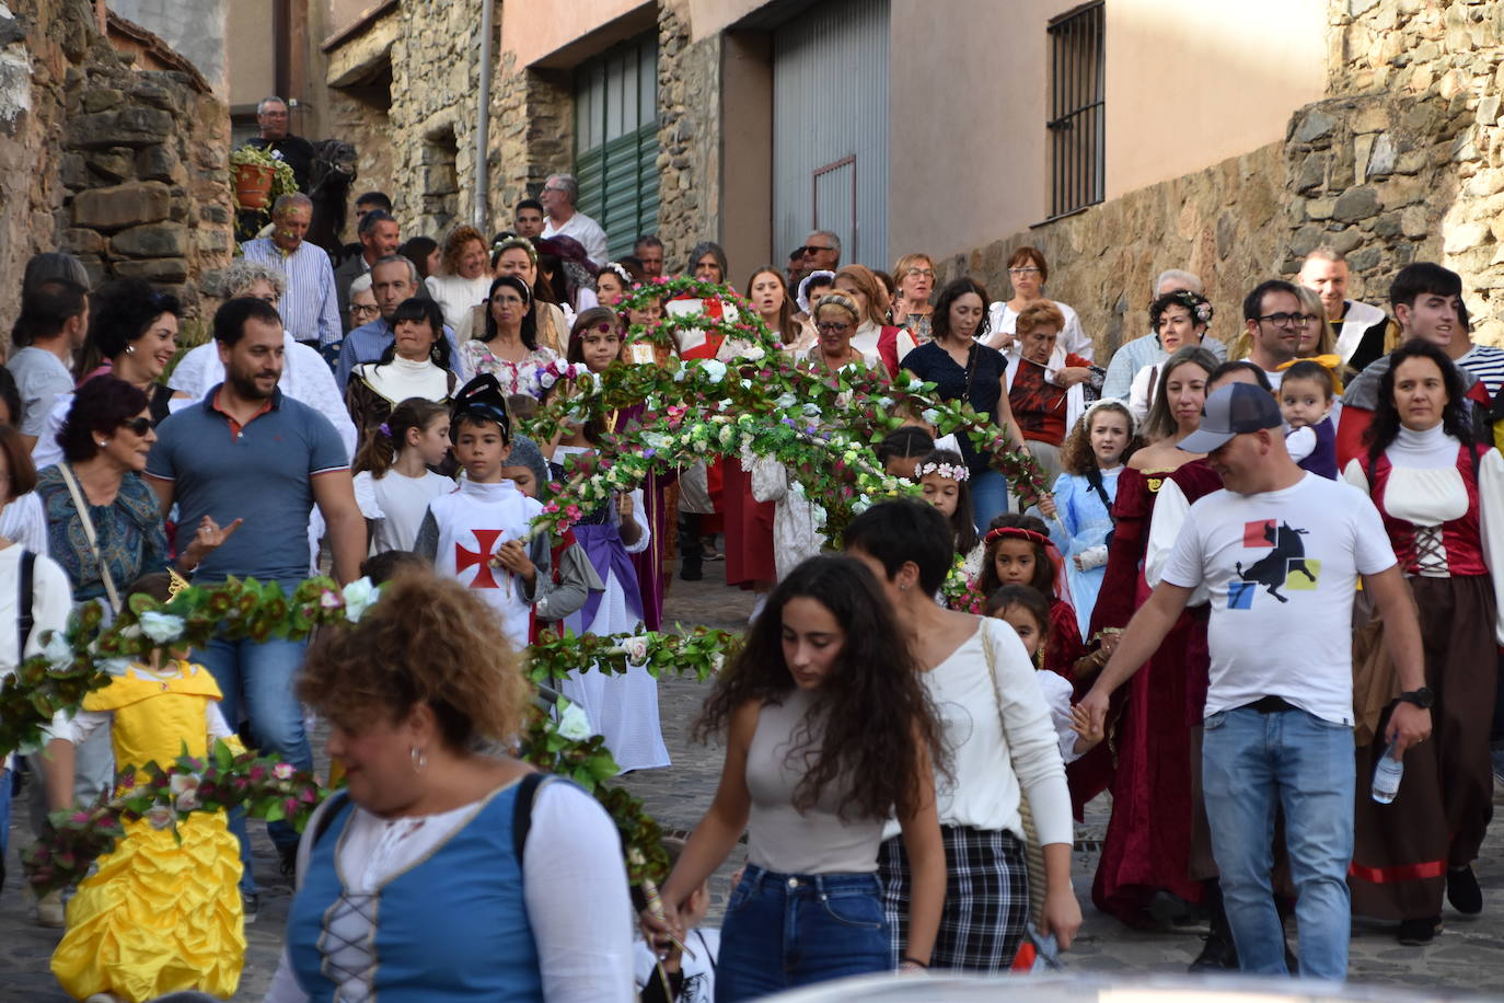
[[[263,753],[278,753],[299,770],[313,768],[313,750],[302,728],[302,707],[293,695],[292,683],[302,666],[307,641],[226,641],[215,638],[194,657],[214,675],[224,698],[220,711],[235,728],[241,720],[241,701],[251,722],[251,735]],[[241,841],[241,889],[256,890],[251,874],[251,841],[245,829],[245,812],[230,812],[230,832]],[[268,823],[266,835],[277,848],[292,853],[298,848],[298,830],[287,823]]]

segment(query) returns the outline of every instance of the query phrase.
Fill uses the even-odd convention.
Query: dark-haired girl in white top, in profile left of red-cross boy
[[[355,501],[370,526],[370,555],[412,550],[429,502],[454,490],[435,474],[450,456],[448,405],[409,397],[355,454]]]

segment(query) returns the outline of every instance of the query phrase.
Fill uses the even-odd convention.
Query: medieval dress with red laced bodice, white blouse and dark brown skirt
[[[1370,795],[1388,708],[1358,749],[1352,911],[1378,919],[1441,916],[1447,868],[1471,865],[1493,812],[1489,723],[1504,559],[1504,457],[1474,454],[1438,426],[1400,429],[1376,463],[1360,456],[1343,477],[1370,492],[1420,611],[1432,735],[1405,753],[1390,805]],[[1490,574],[1490,570],[1495,574]]]

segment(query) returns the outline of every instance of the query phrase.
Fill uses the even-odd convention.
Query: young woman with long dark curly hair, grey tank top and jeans
[[[716,998],[746,1000],[892,967],[877,880],[896,811],[913,868],[904,968],[925,968],[945,899],[932,761],[940,723],[872,573],[809,558],[769,594],[696,734],[726,732],[716,800],[663,886],[665,923],[747,830],[722,928]],[[797,929],[793,950],[785,952]]]

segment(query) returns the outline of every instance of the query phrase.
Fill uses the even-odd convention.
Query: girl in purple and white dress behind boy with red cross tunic
[[[579,314],[570,331],[569,359],[599,373],[620,355],[621,329],[615,314],[605,307]],[[559,380],[550,391],[559,392],[567,386],[567,380]],[[585,426],[570,426],[561,439],[544,450],[555,468],[553,477],[562,480],[566,457],[593,453],[603,430],[600,420],[594,418]],[[651,537],[641,489],[617,495],[575,523],[575,540],[590,555],[591,567],[606,588],[591,592],[579,612],[564,618],[569,630],[599,636],[642,630],[642,591],[632,555],[647,550]],[[562,690],[584,708],[623,771],[669,764],[659,723],[657,680],[645,666],[629,666],[624,674],[609,675],[591,668],[572,674]]]

